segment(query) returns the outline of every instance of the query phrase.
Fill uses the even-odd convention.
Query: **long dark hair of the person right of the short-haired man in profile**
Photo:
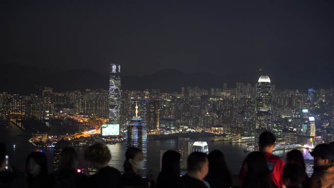
[[[209,173],[205,179],[220,179],[228,186],[232,186],[232,175],[226,164],[224,154],[219,150],[213,150],[209,153],[208,160]]]

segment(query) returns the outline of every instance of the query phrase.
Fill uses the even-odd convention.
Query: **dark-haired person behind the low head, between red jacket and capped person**
[[[287,154],[287,162],[288,164],[297,164],[300,167],[302,167],[302,169],[304,170],[304,181],[303,181],[302,186],[303,188],[309,188],[310,179],[306,173],[306,167],[305,167],[305,161],[304,161],[303,154],[299,150],[293,149],[289,151]]]

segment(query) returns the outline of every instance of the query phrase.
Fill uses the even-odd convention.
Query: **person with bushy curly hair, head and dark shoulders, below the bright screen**
[[[121,173],[109,167],[111,159],[110,150],[102,143],[88,146],[84,158],[98,169],[98,172],[89,177],[90,188],[121,188]]]

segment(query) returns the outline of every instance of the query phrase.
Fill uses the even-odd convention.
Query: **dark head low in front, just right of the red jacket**
[[[305,168],[299,164],[287,164],[283,169],[283,182],[288,188],[301,186],[305,180]]]

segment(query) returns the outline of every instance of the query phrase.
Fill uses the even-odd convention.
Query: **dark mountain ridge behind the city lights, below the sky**
[[[84,89],[108,89],[109,75],[91,70],[75,69],[55,71],[45,68],[23,65],[0,66],[0,92],[30,94],[39,93],[44,86],[55,91]],[[122,76],[123,90],[144,90],[159,88],[162,92],[180,91],[181,86],[199,86],[200,88],[222,88],[223,83],[234,87],[235,83],[254,85],[260,75],[269,75],[276,88],[306,90],[308,87],[329,88],[334,83],[334,70],[331,69],[289,69],[289,70],[250,70],[224,75],[206,72],[185,73],[177,69],[162,69],[144,76]]]

